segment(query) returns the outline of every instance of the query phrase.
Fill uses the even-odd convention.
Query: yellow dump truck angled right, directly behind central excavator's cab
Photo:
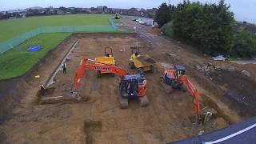
[[[139,47],[130,47],[132,50],[130,56],[129,68],[137,68],[139,72],[141,71],[150,71],[154,73],[154,58],[151,58],[147,54],[139,54]]]

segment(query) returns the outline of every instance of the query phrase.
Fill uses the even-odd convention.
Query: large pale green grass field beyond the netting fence
[[[0,42],[40,26],[110,26],[108,14],[68,14],[0,21]]]

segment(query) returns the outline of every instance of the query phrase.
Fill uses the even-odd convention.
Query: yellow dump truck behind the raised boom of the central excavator
[[[105,50],[104,50],[104,57],[95,58],[95,62],[97,62],[98,64],[101,64],[101,63],[102,63],[102,64],[115,65],[112,48],[110,48],[110,47],[105,47]],[[108,71],[106,71],[106,72],[98,71],[98,72],[97,72],[98,78],[102,77],[102,74],[110,74],[111,76],[114,77],[114,73],[110,73],[110,72],[108,72]]]

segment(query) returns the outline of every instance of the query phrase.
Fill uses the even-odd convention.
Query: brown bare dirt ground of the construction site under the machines
[[[136,26],[126,20],[126,24]],[[21,102],[10,117],[0,126],[0,142],[5,143],[166,143],[197,136],[200,131],[210,132],[241,122],[248,115],[231,110],[233,102],[222,99],[223,86],[219,79],[212,82],[195,66],[211,62],[202,54],[185,50],[176,42],[162,38],[149,27],[137,26],[136,34],[75,34],[66,45],[58,47],[49,61],[25,81]],[[152,38],[145,38],[145,35]],[[97,78],[94,70],[86,70],[78,92],[82,102],[60,101],[52,104],[38,102],[38,86],[50,78],[58,64],[79,38],[70,61],[66,62],[66,74],[60,70],[54,78],[51,96],[70,98],[75,71],[82,58],[94,59],[104,55],[104,47],[113,49],[118,66],[128,70],[130,46],[142,46],[142,54],[149,54],[157,63],[155,73],[146,73],[149,105],[141,107],[136,100],[127,109],[118,104],[118,76],[103,75]],[[175,56],[174,56],[175,55]],[[54,58],[52,58],[54,57]],[[201,108],[214,108],[218,115],[205,126],[193,124],[193,98],[181,90],[166,94],[160,86],[160,77],[167,66],[182,64],[187,75],[200,94]],[[226,65],[225,62],[214,65]],[[136,70],[129,70],[136,74]],[[252,78],[254,70],[250,70]],[[34,78],[39,74],[41,77]],[[213,76],[213,78],[215,78]],[[20,81],[20,80],[19,80]],[[227,88],[228,86],[226,86]],[[14,90],[15,91],[15,90]]]

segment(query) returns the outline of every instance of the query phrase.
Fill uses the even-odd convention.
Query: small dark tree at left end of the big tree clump
[[[158,22],[159,27],[171,20],[170,7],[167,6],[166,2],[162,3],[156,11],[154,21]]]

